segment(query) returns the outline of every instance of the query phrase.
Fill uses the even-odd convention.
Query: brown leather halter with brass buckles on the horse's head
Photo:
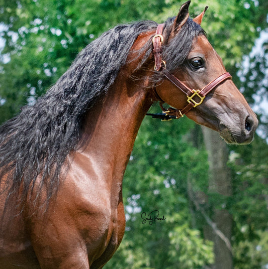
[[[232,76],[230,73],[226,72],[217,78],[215,78],[213,81],[211,81],[208,85],[206,85],[201,90],[194,90],[190,89],[187,85],[185,85],[182,81],[180,81],[177,77],[175,77],[173,74],[171,74],[168,70],[166,70],[165,62],[162,60],[162,43],[163,43],[163,29],[164,24],[159,24],[156,29],[155,36],[152,39],[153,43],[153,53],[154,53],[154,70],[161,72],[171,83],[173,83],[178,89],[180,89],[182,92],[184,92],[187,95],[187,101],[188,105],[186,105],[183,109],[175,109],[173,107],[169,107],[168,109],[165,109],[163,107],[164,101],[159,97],[159,95],[156,92],[156,89],[154,87],[154,93],[156,97],[160,101],[160,107],[165,113],[165,116],[163,117],[164,120],[171,119],[171,118],[180,118],[183,117],[184,114],[188,113],[192,108],[202,104],[203,100],[205,99],[206,95],[213,90],[216,86],[218,86],[220,83],[225,81],[226,79],[231,79]],[[195,97],[195,99],[194,99]],[[199,98],[199,99],[198,99]],[[196,100],[198,99],[198,100]],[[152,114],[151,114],[152,115]],[[157,117],[157,116],[156,116]],[[158,116],[161,118],[160,116]]]

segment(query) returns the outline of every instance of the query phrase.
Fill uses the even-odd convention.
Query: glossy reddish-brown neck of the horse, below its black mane
[[[121,70],[104,99],[88,112],[82,136],[86,143],[80,150],[101,173],[110,173],[104,177],[121,182],[138,129],[152,104],[149,81],[126,80],[127,74]]]

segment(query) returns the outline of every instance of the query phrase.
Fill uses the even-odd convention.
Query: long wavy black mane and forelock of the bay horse
[[[169,35],[173,21],[174,18],[167,20],[165,36]],[[155,22],[143,21],[104,33],[78,54],[71,67],[35,104],[24,106],[20,114],[0,126],[0,184],[5,181],[9,197],[20,191],[23,203],[31,197],[40,176],[34,201],[45,189],[48,203],[58,190],[67,155],[76,149],[81,138],[86,112],[114,83],[138,35],[156,27]],[[183,64],[193,38],[204,34],[202,31],[191,19],[187,21],[163,48],[167,68],[172,71]],[[151,42],[144,50],[142,63],[152,57]]]

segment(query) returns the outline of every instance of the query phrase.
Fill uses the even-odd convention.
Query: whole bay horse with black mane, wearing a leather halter
[[[104,266],[123,238],[123,175],[154,102],[227,143],[252,141],[257,118],[200,26],[205,11],[190,19],[189,5],[161,25],[104,33],[2,125],[1,269]]]

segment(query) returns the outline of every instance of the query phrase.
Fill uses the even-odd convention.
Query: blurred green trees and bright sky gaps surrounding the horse
[[[174,0],[0,0],[0,122],[38,96],[77,53],[118,24],[164,22]],[[193,0],[260,124],[250,145],[226,145],[186,117],[145,117],[124,177],[126,232],[104,268],[268,268],[267,0]],[[150,112],[160,112],[156,105]],[[142,224],[141,214],[165,220]]]

